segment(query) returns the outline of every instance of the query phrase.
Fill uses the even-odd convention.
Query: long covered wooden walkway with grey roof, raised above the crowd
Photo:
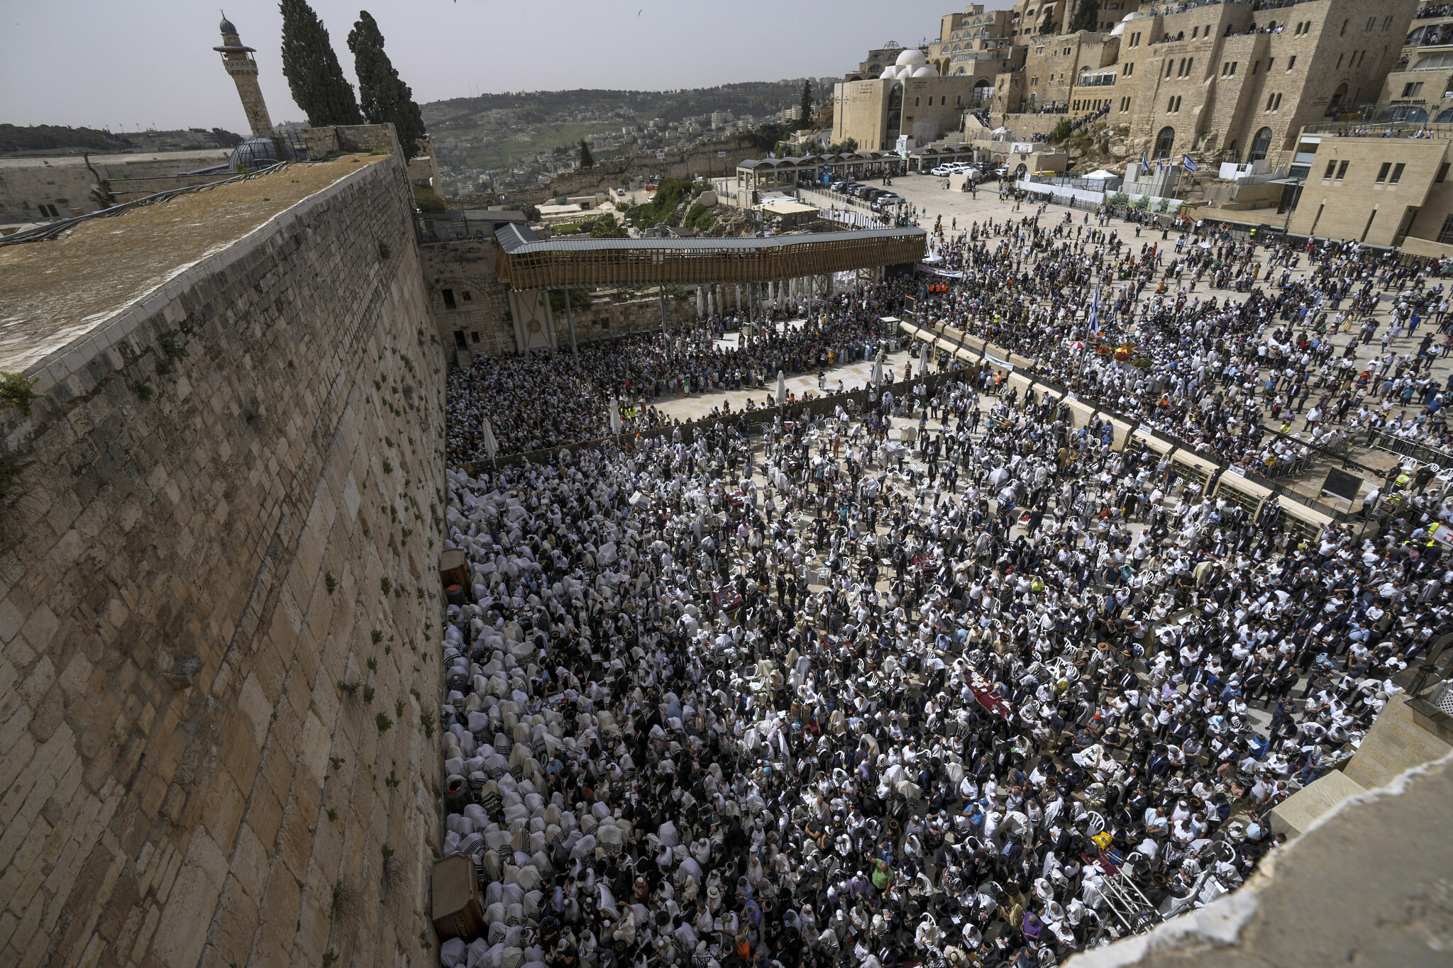
[[[513,289],[757,283],[923,258],[921,228],[779,238],[549,239],[501,226],[497,273]]]

